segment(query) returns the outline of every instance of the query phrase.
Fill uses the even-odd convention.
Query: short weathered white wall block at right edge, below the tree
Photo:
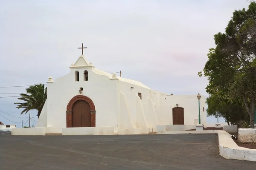
[[[239,143],[256,143],[256,129],[238,129]]]

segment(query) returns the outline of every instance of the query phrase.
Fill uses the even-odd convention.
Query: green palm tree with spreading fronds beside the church
[[[44,89],[44,85],[42,84],[32,85],[26,88],[26,94],[20,94],[20,98],[18,99],[25,101],[23,103],[14,103],[17,105],[16,108],[24,108],[21,114],[26,114],[30,110],[37,110],[37,116],[39,118],[47,99],[47,88]]]

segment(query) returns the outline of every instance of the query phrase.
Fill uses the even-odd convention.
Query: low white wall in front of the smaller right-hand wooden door
[[[164,134],[165,131],[183,131],[195,128],[196,125],[157,125],[157,134]]]

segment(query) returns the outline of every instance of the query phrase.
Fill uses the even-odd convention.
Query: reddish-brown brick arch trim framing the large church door
[[[73,108],[73,105],[76,101],[78,100],[84,100],[86,101],[87,103],[89,103],[90,105],[90,113],[91,113],[91,127],[95,127],[96,126],[96,111],[95,111],[95,105],[92,101],[92,99],[90,99],[89,97],[87,96],[83,96],[83,95],[77,95],[77,96],[74,96],[70,102],[67,104],[67,111],[66,111],[66,122],[67,122],[67,127],[72,127],[72,108]]]

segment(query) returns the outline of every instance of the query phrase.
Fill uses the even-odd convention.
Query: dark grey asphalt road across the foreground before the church
[[[224,159],[217,134],[0,135],[1,170],[255,170]]]

